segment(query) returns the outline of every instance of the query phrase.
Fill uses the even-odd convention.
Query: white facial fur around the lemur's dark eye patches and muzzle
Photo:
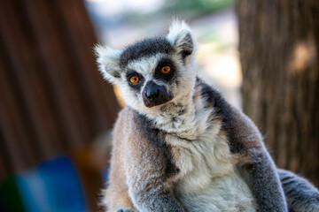
[[[163,57],[168,57],[174,62],[176,68],[176,79],[179,81],[178,85],[175,81],[167,84],[167,82],[163,80],[154,79],[153,76],[155,68],[159,63],[159,60]],[[123,72],[121,82],[118,83],[121,87],[123,100],[133,109],[139,110],[146,115],[152,116],[152,114],[159,114],[159,108],[162,106],[159,105],[152,108],[144,106],[142,92],[146,83],[150,80],[153,80],[158,85],[166,87],[167,91],[173,94],[174,98],[170,102],[182,101],[182,99],[185,99],[185,94],[187,94],[187,99],[190,99],[191,94],[193,94],[197,73],[195,71],[194,64],[191,63],[184,65],[181,58],[176,54],[165,55],[160,53],[152,57],[143,57],[139,60],[128,63],[127,70],[133,70],[141,74],[144,77],[144,85],[139,91],[136,91],[136,89],[129,86],[125,72]]]

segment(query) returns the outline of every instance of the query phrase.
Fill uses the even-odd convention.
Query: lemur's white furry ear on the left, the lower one
[[[97,45],[95,48],[97,64],[103,77],[113,84],[117,84],[121,79],[120,57],[121,50],[112,49]]]

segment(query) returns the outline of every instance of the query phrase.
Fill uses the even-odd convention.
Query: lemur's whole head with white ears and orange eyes
[[[121,87],[129,106],[144,112],[191,97],[196,81],[195,42],[184,22],[169,33],[136,42],[123,50],[97,46],[97,63],[105,79]]]

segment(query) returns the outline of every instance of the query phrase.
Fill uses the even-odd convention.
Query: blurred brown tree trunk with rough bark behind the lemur
[[[319,1],[239,0],[243,108],[280,168],[319,186]]]

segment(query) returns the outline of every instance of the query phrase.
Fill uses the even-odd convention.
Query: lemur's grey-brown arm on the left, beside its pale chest
[[[159,132],[150,127],[147,119],[136,111],[133,118],[137,125],[127,129],[128,155],[125,155],[125,170],[128,194],[138,211],[184,211],[175,200],[167,179],[174,175],[167,147],[160,140]],[[142,129],[144,128],[144,129]]]

